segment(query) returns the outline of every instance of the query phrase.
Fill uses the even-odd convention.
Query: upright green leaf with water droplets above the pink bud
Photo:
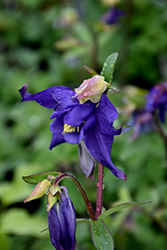
[[[101,75],[104,76],[105,80],[109,83],[112,82],[114,66],[118,57],[118,53],[113,53],[107,57],[103,64]]]

